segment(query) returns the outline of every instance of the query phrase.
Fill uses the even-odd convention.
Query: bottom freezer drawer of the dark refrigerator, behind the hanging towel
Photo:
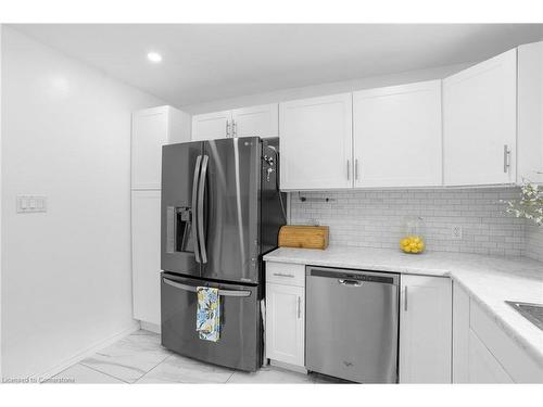
[[[215,287],[220,295],[217,342],[197,332],[197,287]],[[233,369],[255,371],[262,366],[262,320],[258,288],[185,278],[163,272],[161,278],[162,344],[181,355]]]

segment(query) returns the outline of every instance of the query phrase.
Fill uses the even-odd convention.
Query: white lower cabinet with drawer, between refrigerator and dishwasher
[[[303,265],[266,266],[266,358],[301,368],[305,365],[304,275]]]

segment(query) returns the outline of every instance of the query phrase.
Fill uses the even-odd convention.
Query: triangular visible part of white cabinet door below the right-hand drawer
[[[513,383],[502,365],[471,330],[469,331],[469,383]]]

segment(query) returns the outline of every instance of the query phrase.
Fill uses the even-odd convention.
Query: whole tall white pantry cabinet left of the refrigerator
[[[190,141],[190,115],[172,106],[132,113],[131,255],[134,318],[161,323],[162,147]],[[154,327],[153,327],[154,326]]]

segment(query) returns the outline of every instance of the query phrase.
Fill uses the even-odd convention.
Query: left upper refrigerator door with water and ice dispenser
[[[162,149],[161,268],[200,276],[197,237],[198,181],[202,142]]]

